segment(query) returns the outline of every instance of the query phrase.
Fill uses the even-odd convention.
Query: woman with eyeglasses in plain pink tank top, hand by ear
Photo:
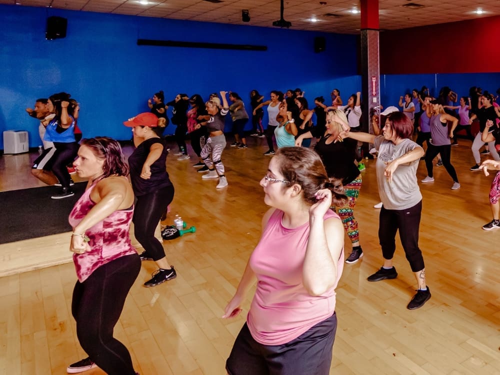
[[[226,361],[230,375],[329,372],[335,287],[343,268],[340,181],[304,147],[280,148],[260,180],[262,235],[223,317],[233,317],[257,281],[246,323]]]

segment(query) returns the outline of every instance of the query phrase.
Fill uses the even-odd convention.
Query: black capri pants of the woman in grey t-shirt
[[[418,230],[422,213],[422,201],[406,209],[380,209],[378,240],[384,259],[392,259],[396,250],[396,231],[409,262],[411,270],[418,272],[425,268],[423,256],[418,247]]]

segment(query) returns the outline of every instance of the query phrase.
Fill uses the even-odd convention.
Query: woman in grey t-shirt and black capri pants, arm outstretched
[[[416,294],[406,306],[413,310],[423,306],[430,298],[430,290],[425,283],[423,256],[418,247],[422,194],[418,188],[416,170],[418,160],[423,156],[423,148],[411,140],[413,125],[401,112],[390,113],[385,119],[382,131],[383,135],[378,136],[342,131],[339,139],[350,137],[374,143],[378,151],[375,168],[378,193],[383,203],[380,208],[378,239],[382,247],[383,265],[368,276],[368,281],[397,277],[392,257],[396,249],[395,235],[399,230],[406,259],[418,284]]]

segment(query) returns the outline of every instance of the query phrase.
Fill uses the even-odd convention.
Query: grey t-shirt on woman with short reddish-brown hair
[[[376,180],[378,184],[378,194],[380,200],[386,209],[406,209],[413,207],[422,200],[422,194],[416,180],[416,169],[418,168],[418,159],[409,163],[400,164],[392,175],[392,181],[389,183],[383,172],[386,162],[390,162],[405,153],[420,147],[411,139],[403,139],[399,144],[394,144],[386,140],[383,135],[375,137],[373,142],[378,150],[378,156],[375,163]]]

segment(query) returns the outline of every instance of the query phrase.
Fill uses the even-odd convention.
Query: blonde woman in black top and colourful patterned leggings
[[[326,131],[319,134],[317,133],[317,127],[312,128],[299,135],[295,145],[299,146],[304,138],[321,136],[314,150],[321,157],[328,177],[342,180],[344,194],[347,195],[348,200],[346,205],[336,207],[336,212],[342,219],[344,229],[352,243],[352,252],[345,259],[345,262],[355,263],[363,256],[363,250],[359,245],[359,229],[354,218],[354,207],[359,196],[362,178],[359,169],[354,163],[357,140],[345,138],[342,142],[335,141],[342,131],[342,124],[346,128],[348,127],[345,113],[339,109],[330,110],[326,114]]]

